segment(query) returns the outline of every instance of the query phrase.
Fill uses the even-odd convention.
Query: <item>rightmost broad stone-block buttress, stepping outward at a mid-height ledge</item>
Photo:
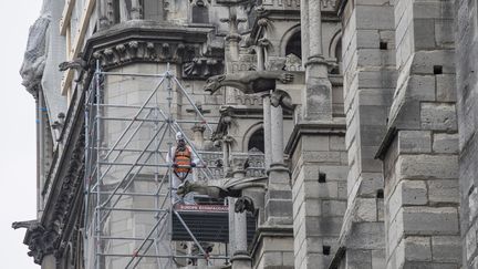
[[[383,144],[387,268],[459,268],[453,1],[395,2],[397,87]]]

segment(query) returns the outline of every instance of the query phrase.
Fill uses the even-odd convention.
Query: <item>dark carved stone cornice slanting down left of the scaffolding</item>
[[[27,228],[23,244],[29,246],[29,256],[34,262],[41,265],[44,256],[62,257],[65,240],[70,237],[73,227],[69,226],[72,218],[81,214],[77,210],[79,199],[82,195],[84,177],[84,146],[85,133],[82,121],[84,95],[74,92],[72,105],[66,115],[65,126],[62,131],[62,141],[67,147],[55,149],[55,162],[49,172],[42,196],[46,200],[44,213],[39,220],[13,223],[12,227]]]

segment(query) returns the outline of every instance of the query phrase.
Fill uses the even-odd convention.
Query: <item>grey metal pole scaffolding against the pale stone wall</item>
[[[178,94],[198,120],[175,118],[175,110],[180,110],[174,102]],[[206,164],[181,124],[212,128],[169,65],[162,74],[139,74],[104,72],[97,63],[85,107],[85,268],[176,268],[187,259],[208,265],[228,259],[202,248],[174,204],[168,154],[175,134],[183,133]],[[199,165],[194,174],[205,179],[215,176],[207,165]],[[197,254],[177,248],[173,219],[183,225]]]

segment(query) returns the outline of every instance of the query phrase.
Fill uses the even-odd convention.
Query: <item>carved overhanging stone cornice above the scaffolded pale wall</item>
[[[205,80],[224,72],[224,50],[208,45],[211,28],[127,21],[90,38],[83,59],[103,70],[131,63],[181,65],[183,79]]]

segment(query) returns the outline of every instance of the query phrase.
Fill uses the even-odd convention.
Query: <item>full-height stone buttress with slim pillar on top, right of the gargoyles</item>
[[[291,157],[294,268],[326,268],[337,250],[346,208],[347,156],[343,99],[329,77],[330,48],[336,49],[337,22],[323,22],[321,1],[301,1],[302,62],[305,85],[295,107]],[[336,59],[334,59],[336,60]],[[342,81],[335,75],[335,90]],[[337,112],[337,110],[340,110]]]

